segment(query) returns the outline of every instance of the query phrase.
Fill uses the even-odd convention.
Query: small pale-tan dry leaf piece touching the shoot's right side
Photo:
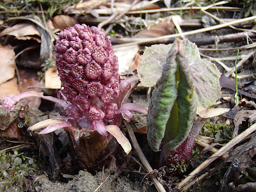
[[[196,114],[201,116],[202,118],[211,118],[214,116],[222,115],[223,113],[227,113],[230,111],[228,108],[211,108],[211,109],[205,109],[198,107],[196,108]]]

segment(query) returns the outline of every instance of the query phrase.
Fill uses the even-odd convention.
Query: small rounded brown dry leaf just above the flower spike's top
[[[68,15],[56,15],[52,18],[52,25],[58,29],[65,29],[77,24],[77,20]]]

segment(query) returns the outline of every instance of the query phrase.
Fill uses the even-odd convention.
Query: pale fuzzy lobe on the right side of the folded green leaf
[[[188,40],[182,42],[180,55],[189,63],[193,84],[195,86],[196,107],[209,108],[220,97],[220,72],[211,61],[204,61],[195,44]]]

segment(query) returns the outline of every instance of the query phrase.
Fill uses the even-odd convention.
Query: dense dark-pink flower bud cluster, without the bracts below
[[[118,111],[118,60],[104,32],[85,24],[60,32],[54,46],[61,93],[72,103],[72,116],[88,120],[113,120]]]

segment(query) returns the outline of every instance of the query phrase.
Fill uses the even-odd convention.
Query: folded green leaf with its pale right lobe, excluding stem
[[[208,108],[220,97],[219,78],[216,66],[200,59],[195,44],[175,40],[148,108],[147,136],[152,150],[158,151],[162,140],[168,150],[186,140],[196,107]]]

